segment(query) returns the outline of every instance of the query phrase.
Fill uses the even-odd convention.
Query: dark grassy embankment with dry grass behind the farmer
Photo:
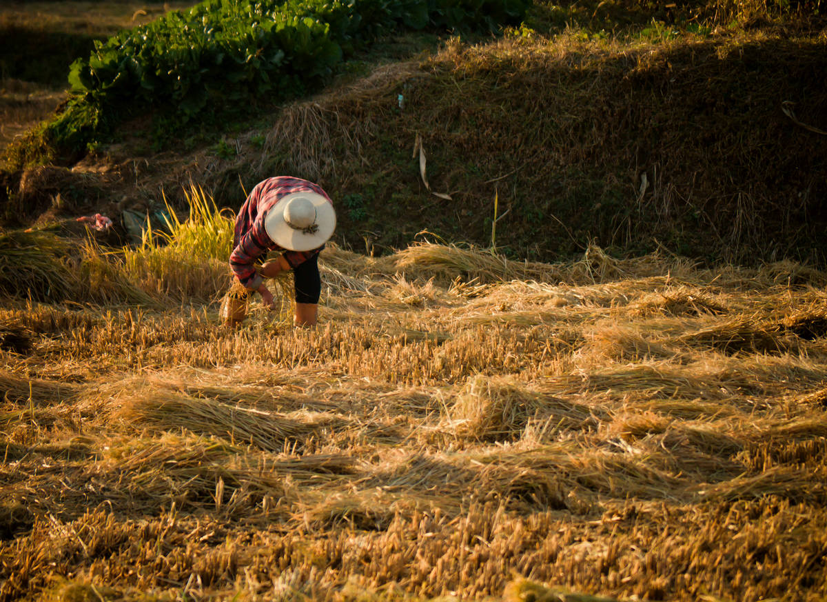
[[[349,248],[390,252],[423,229],[486,245],[497,218],[514,258],[575,257],[593,241],[621,255],[665,246],[710,263],[821,263],[819,10],[538,2],[501,41],[454,38],[416,55],[435,36],[390,36],[352,56],[329,93],[272,110],[254,98],[256,111],[223,128],[155,141],[171,153],[155,153],[145,117],[99,146],[105,170],[90,159],[9,175],[7,213],[34,219],[61,191],[57,213],[118,213],[189,176],[237,207],[239,179],[250,189],[290,173],[338,199]],[[383,52],[414,60],[377,69]],[[428,183],[451,201],[423,184],[417,140]]]

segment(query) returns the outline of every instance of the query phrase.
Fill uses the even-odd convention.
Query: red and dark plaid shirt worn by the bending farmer
[[[268,251],[284,251],[282,256],[291,268],[301,265],[304,261],[322,251],[324,245],[313,251],[288,251],[270,240],[264,228],[264,220],[271,208],[280,198],[290,193],[310,190],[321,194],[332,204],[330,197],[318,184],[306,179],[268,178],[256,184],[250,196],[241,205],[236,217],[236,230],[233,236],[233,250],[230,254],[232,273],[247,289],[256,290],[261,286],[261,275],[256,273],[254,263]]]

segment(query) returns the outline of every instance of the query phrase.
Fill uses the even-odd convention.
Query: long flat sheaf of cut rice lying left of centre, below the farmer
[[[313,417],[303,422],[280,413],[237,408],[213,399],[194,399],[152,389],[143,392],[141,397],[129,399],[116,415],[136,428],[160,431],[186,428],[198,434],[249,443],[267,451],[282,451],[291,443],[301,445],[324,428],[342,425],[342,420],[337,418]]]

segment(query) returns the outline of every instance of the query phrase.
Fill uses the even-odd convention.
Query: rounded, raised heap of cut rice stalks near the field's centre
[[[514,440],[529,418],[553,418],[561,428],[585,428],[588,408],[526,389],[514,377],[469,378],[448,415],[457,437],[478,441]]]

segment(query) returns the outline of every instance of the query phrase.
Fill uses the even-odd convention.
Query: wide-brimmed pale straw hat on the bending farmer
[[[310,251],[336,230],[336,211],[321,194],[290,193],[267,212],[264,229],[270,240],[288,251]]]

